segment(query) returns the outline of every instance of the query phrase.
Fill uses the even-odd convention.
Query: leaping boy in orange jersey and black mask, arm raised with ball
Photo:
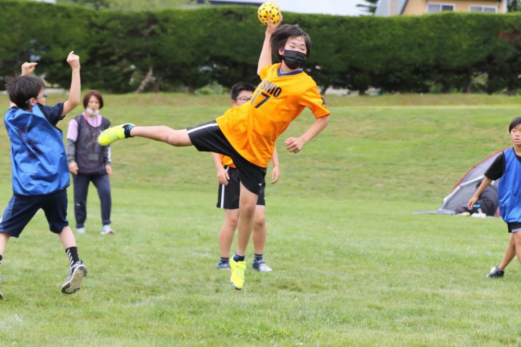
[[[282,20],[281,20],[282,21]],[[98,142],[102,146],[128,137],[145,137],[176,147],[195,146],[199,151],[231,157],[239,173],[239,235],[235,255],[230,259],[233,288],[244,286],[244,253],[253,229],[255,205],[266,167],[275,148],[275,140],[305,107],[315,121],[299,137],[288,137],[284,144],[291,153],[327,126],[329,110],[318,87],[302,65],[311,53],[311,39],[296,25],[269,23],[259,57],[257,73],[262,82],[250,102],[232,107],[214,121],[195,127],[173,130],[168,126],[121,124],[105,130]],[[271,64],[271,53],[279,63]]]

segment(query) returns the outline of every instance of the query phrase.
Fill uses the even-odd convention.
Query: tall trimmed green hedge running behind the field
[[[322,87],[467,90],[481,74],[489,93],[520,86],[521,15],[285,13],[284,22],[311,36],[306,69]],[[0,23],[0,88],[29,60],[39,62],[37,72],[49,83],[67,86],[65,57],[75,50],[83,86],[112,92],[135,90],[149,71],[155,88],[164,90],[258,82],[265,30],[248,6],[114,12],[5,0]]]

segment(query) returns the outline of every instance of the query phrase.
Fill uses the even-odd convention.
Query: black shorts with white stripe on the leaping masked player
[[[198,151],[221,153],[230,157],[237,167],[239,181],[247,190],[259,195],[266,176],[266,168],[244,159],[228,142],[215,120],[189,127],[187,132],[190,141]]]

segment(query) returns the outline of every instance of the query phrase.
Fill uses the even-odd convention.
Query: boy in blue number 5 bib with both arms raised
[[[34,214],[42,209],[49,229],[58,234],[69,259],[61,292],[72,294],[80,289],[87,268],[79,259],[76,240],[67,221],[69,168],[63,135],[56,127],[56,123],[80,103],[80,58],[70,52],[67,63],[72,69],[69,99],[53,107],[45,106],[47,95],[43,81],[31,76],[37,63],[23,63],[21,76],[7,81],[10,102],[4,123],[11,143],[13,197],[0,221],[0,264],[9,238],[18,237]]]

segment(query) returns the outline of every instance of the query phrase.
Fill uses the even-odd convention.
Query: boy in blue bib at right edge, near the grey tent
[[[499,210],[511,235],[503,260],[490,269],[488,278],[503,277],[505,267],[516,255],[521,262],[521,117],[512,120],[508,131],[514,147],[504,150],[490,164],[476,194],[468,200],[468,208],[472,209],[483,190],[501,178],[498,184]]]

